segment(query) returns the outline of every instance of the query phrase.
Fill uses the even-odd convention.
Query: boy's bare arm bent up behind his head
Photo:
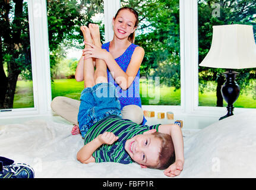
[[[175,163],[170,165],[165,170],[167,176],[177,176],[181,173],[184,164],[184,145],[181,128],[176,124],[160,125],[159,132],[169,134],[172,137],[173,146],[175,149]]]

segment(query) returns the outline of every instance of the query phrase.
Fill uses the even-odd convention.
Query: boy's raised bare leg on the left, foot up
[[[81,26],[81,31],[83,32],[84,41],[93,43],[93,40],[91,39],[91,33],[87,26]],[[85,45],[87,47],[88,45]],[[87,87],[93,87],[95,85],[94,81],[94,66],[93,66],[93,59],[84,59],[84,88]]]

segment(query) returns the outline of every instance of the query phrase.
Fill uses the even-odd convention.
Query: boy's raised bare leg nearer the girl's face
[[[91,36],[93,38],[93,43],[97,47],[102,47],[102,43],[100,43],[100,30],[97,24],[89,24],[89,29],[91,32]],[[99,83],[108,83],[108,75],[107,75],[107,66],[105,61],[102,59],[96,59],[96,70],[94,73],[94,80],[96,84]]]

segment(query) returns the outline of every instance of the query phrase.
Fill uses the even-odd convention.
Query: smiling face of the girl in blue
[[[119,39],[125,39],[136,29],[136,17],[127,9],[121,10],[116,18],[113,18],[113,30]]]

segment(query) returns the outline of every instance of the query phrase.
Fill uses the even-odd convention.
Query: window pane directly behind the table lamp
[[[248,24],[254,27],[256,36],[256,1],[236,0],[198,1],[198,39],[199,63],[203,61],[211,46],[213,26],[224,24]],[[199,69],[199,106],[227,106],[223,101],[220,87],[225,82],[222,72],[198,66]],[[239,72],[236,82],[241,88],[235,107],[256,107],[256,69],[235,69]]]

